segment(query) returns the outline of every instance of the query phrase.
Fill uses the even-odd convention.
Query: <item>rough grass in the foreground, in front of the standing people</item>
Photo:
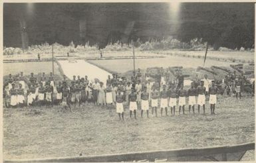
[[[125,120],[118,121],[114,108],[94,105],[72,113],[57,112],[57,106],[4,109],[3,156],[47,158],[254,142],[254,98],[219,97],[217,115],[209,115],[209,105],[206,113],[135,120],[126,107]],[[254,160],[253,152],[245,160]]]

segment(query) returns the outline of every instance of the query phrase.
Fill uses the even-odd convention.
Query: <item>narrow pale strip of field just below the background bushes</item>
[[[57,52],[55,50],[55,52]],[[66,52],[57,52],[58,54],[54,54],[55,57],[66,57]],[[204,57],[205,51],[204,50],[148,50],[148,51],[140,51],[135,50],[136,56],[159,56],[164,54],[173,54],[178,56],[183,55],[189,55],[189,56],[200,56],[201,58]],[[82,53],[74,52],[70,53],[70,56],[77,56],[77,57],[84,57],[84,58],[91,58],[91,57],[100,57],[100,52],[98,51],[84,51]],[[104,57],[118,57],[118,56],[133,56],[132,50],[127,51],[107,51],[102,50],[102,56]],[[245,60],[247,61],[254,61],[254,52],[239,52],[239,51],[233,51],[233,52],[221,52],[221,51],[208,51],[207,56],[209,57],[215,57],[215,58],[225,58],[225,59],[237,59],[237,60]],[[52,54],[41,54],[41,58],[52,58]],[[37,60],[37,54],[19,54],[19,55],[12,55],[12,56],[3,56],[3,60],[28,60],[33,59]]]

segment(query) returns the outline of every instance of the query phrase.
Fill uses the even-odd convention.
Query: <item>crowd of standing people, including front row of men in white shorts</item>
[[[230,74],[227,74],[225,83],[235,87],[236,94],[241,99],[242,78],[229,80]],[[144,81],[144,82],[142,82]],[[25,91],[25,83],[27,90]],[[209,87],[211,85],[211,87]],[[35,78],[31,73],[29,80],[23,76],[21,72],[18,76],[9,74],[9,78],[5,83],[4,97],[7,99],[5,106],[24,107],[31,105],[52,106],[53,103],[62,105],[63,109],[75,108],[76,105],[86,105],[86,103],[94,103],[94,105],[115,105],[116,113],[119,119],[124,119],[124,103],[128,105],[130,117],[134,113],[136,119],[136,110],[141,109],[141,117],[146,112],[149,117],[149,109],[152,109],[152,116],[158,116],[158,108],[160,107],[161,116],[163,111],[168,115],[168,108],[171,114],[175,115],[176,106],[178,112],[185,114],[185,107],[188,104],[188,111],[195,114],[195,105],[200,113],[200,107],[203,108],[205,114],[205,101],[209,96],[209,104],[211,114],[215,114],[215,105],[217,103],[217,93],[219,91],[215,81],[207,79],[207,75],[200,82],[192,82],[188,90],[184,89],[184,78],[178,74],[176,80],[167,81],[164,74],[161,79],[157,80],[146,75],[142,78],[140,69],[134,72],[131,80],[120,78],[117,74],[113,74],[112,78],[108,76],[106,86],[97,79],[89,81],[87,76],[73,76],[72,80],[68,80],[64,76],[63,80],[56,83],[52,73],[46,76],[43,73]],[[56,95],[55,97],[54,94]],[[236,97],[237,97],[236,95]],[[26,98],[25,98],[26,97]],[[186,102],[188,97],[188,103]],[[8,105],[9,99],[9,105]],[[26,100],[27,99],[27,100]],[[196,100],[197,99],[197,100]],[[25,103],[25,101],[27,101]],[[72,107],[74,105],[74,107]]]

